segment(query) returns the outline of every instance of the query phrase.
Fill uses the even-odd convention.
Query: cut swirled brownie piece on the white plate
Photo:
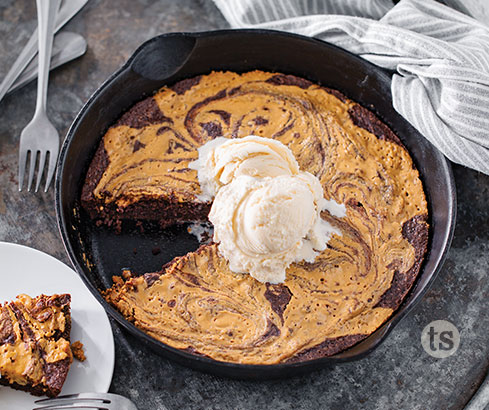
[[[0,384],[55,397],[73,361],[71,296],[19,295],[0,305]]]

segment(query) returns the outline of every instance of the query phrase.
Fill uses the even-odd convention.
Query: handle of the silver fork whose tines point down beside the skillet
[[[60,3],[61,0],[36,0],[39,39],[39,76],[37,79],[37,101],[34,117],[46,112],[54,25]]]

